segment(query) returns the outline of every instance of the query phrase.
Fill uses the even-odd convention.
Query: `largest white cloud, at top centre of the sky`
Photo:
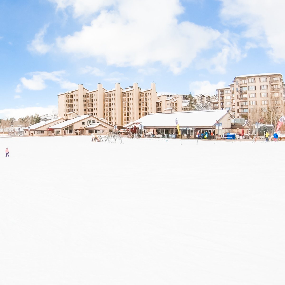
[[[184,12],[179,0],[145,0],[143,5],[129,0],[50,1],[57,9],[71,7],[74,17],[93,17],[80,31],[57,38],[58,50],[65,53],[100,58],[107,65],[120,67],[160,63],[174,74],[189,67],[203,51],[220,47],[221,42],[225,64],[230,58],[225,49],[231,44],[224,41],[225,34],[189,21],[179,23]],[[212,60],[213,69],[217,61]]]

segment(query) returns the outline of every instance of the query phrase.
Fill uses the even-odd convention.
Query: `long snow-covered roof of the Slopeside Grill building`
[[[177,118],[180,127],[213,126],[227,113],[229,113],[227,110],[156,113],[146,115],[135,122],[142,123],[145,127],[176,127],[175,119]],[[231,118],[233,117],[231,116]]]

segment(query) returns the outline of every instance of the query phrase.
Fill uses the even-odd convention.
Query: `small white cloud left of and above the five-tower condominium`
[[[60,85],[62,89],[76,89],[78,84],[72,83],[68,80],[65,80],[63,76],[65,75],[64,70],[53,71],[53,72],[31,72],[29,75],[32,76],[31,79],[25,77],[20,78],[22,85],[17,85],[17,89],[27,88],[29,90],[43,90],[46,88],[46,80],[56,82]]]

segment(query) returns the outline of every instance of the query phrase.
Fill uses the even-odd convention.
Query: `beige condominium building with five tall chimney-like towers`
[[[155,113],[156,101],[155,83],[151,83],[149,89],[141,89],[137,83],[123,89],[115,83],[115,88],[111,90],[99,83],[97,89],[92,91],[78,84],[78,89],[58,95],[58,117],[67,119],[70,112],[76,112],[78,116],[106,118],[109,124],[122,127]]]

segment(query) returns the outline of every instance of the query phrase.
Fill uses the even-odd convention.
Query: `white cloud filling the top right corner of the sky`
[[[220,0],[221,18],[229,25],[245,27],[241,36],[251,39],[251,45],[268,48],[274,60],[285,60],[283,18],[285,1]]]

